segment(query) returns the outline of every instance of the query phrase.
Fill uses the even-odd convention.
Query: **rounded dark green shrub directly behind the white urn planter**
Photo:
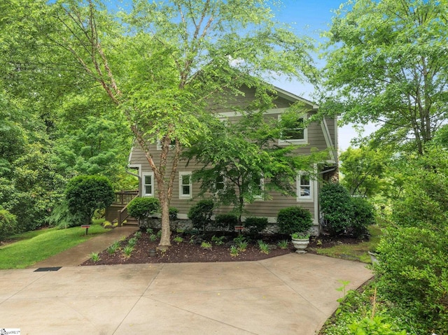
[[[282,208],[277,215],[277,224],[282,234],[304,233],[311,228],[312,223],[311,213],[302,207]]]

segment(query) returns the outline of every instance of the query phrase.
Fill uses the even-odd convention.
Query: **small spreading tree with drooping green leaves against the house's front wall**
[[[232,205],[239,222],[246,205],[260,197],[267,199],[269,190],[293,194],[297,171],[312,173],[314,163],[328,155],[295,155],[297,145],[276,145],[285,124],[266,118],[264,110],[242,113],[238,121],[216,122],[209,141],[198,141],[183,152],[202,166],[193,173],[193,180],[201,183],[199,195],[210,192],[218,203]],[[297,116],[296,111],[289,111],[282,120],[288,114]]]

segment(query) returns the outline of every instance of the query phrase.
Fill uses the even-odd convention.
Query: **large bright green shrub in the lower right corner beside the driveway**
[[[377,247],[379,294],[427,334],[448,329],[447,245],[447,227],[398,227],[387,229]]]

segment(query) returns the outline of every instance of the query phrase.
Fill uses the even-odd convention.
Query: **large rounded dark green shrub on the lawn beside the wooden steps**
[[[81,215],[90,224],[97,209],[109,207],[115,199],[111,183],[103,176],[77,176],[66,185],[65,197],[69,211]]]

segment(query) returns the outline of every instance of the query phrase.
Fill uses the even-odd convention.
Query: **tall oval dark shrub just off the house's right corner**
[[[339,183],[327,183],[319,194],[324,227],[330,234],[346,232],[353,216],[353,204],[349,191]]]

